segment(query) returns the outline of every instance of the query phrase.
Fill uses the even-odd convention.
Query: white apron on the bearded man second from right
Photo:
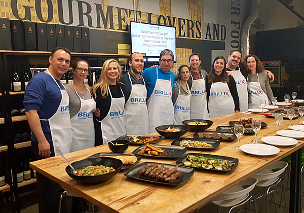
[[[237,91],[240,100],[240,112],[243,112],[248,110],[247,81],[240,71],[240,66],[238,67],[239,70],[230,71],[230,73],[233,75],[233,78],[236,81]]]

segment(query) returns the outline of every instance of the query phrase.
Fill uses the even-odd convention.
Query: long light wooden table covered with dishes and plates
[[[233,114],[220,117],[213,120],[213,125],[208,129],[215,130],[217,126],[227,126],[228,121],[236,121],[241,118],[255,118],[268,124],[268,127],[258,132],[257,138],[263,136],[276,135],[277,124],[274,119],[267,118],[263,115],[253,114]],[[299,119],[293,120],[292,124],[297,125]],[[289,120],[284,120],[280,129],[288,129]],[[187,132],[184,137],[192,137],[194,132]],[[241,145],[250,144],[254,135],[243,135]],[[173,139],[162,139],[162,145],[170,145]],[[238,183],[246,180],[249,176],[263,170],[267,166],[281,160],[292,154],[291,165],[291,189],[290,189],[290,212],[300,212],[300,166],[301,166],[301,149],[304,146],[304,140],[298,140],[299,143],[281,148],[273,156],[267,156],[269,161],[259,160],[254,157],[246,156],[242,151],[234,149],[237,145],[237,139],[232,142],[221,142],[220,146],[208,153],[222,156],[229,156],[239,159],[237,168],[229,173],[212,173],[196,171],[191,179],[184,185],[172,188],[147,184],[128,179],[121,172],[112,179],[99,185],[84,185],[71,179],[65,172],[66,162],[60,157],[47,158],[30,163],[30,167],[37,172],[47,176],[49,179],[60,184],[65,189],[87,199],[93,204],[103,208],[108,212],[185,212],[188,213],[195,208],[202,206],[215,196],[234,187]],[[132,153],[137,147],[130,146],[125,152]],[[68,161],[74,162],[85,159],[99,152],[110,152],[107,145],[94,147],[78,152],[66,154]],[[195,152],[195,151],[187,151]],[[154,160],[143,158],[141,162],[163,162],[175,164],[176,160]],[[294,183],[294,184],[293,184]]]

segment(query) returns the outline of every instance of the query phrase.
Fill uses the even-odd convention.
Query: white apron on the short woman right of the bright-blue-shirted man
[[[182,121],[190,119],[190,100],[191,95],[180,95],[180,81],[179,81],[179,92],[177,99],[174,104],[174,119],[173,124],[182,125]],[[189,86],[187,84],[187,90]]]

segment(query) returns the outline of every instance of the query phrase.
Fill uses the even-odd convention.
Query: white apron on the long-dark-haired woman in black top
[[[208,108],[210,119],[235,113],[235,104],[227,83],[211,84]]]

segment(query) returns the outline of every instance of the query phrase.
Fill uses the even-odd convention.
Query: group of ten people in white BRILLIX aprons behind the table
[[[254,55],[246,56],[242,66],[239,51],[231,52],[227,63],[217,56],[209,74],[200,68],[199,54],[193,53],[189,66],[181,65],[177,75],[170,70],[171,50],[161,52],[158,66],[144,70],[143,56],[135,52],[123,75],[117,60],[106,60],[91,88],[84,84],[89,63],[82,59],[72,64],[73,81],[60,83],[70,61],[68,49],[55,48],[46,72],[35,75],[26,88],[23,104],[37,159],[107,144],[125,134],[155,132],[155,126],[245,111],[273,96],[269,78],[273,81],[274,75]],[[40,208],[48,212],[48,204],[59,202],[62,188],[43,175],[37,183],[46,193]]]

